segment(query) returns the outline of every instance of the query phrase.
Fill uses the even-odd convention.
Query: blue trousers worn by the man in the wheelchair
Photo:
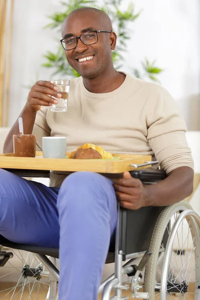
[[[59,247],[59,300],[97,299],[116,207],[112,181],[97,173],[72,173],[53,188],[0,169],[0,234]]]

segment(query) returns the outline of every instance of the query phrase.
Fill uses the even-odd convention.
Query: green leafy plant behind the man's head
[[[92,6],[99,8],[106,12],[112,21],[113,30],[117,34],[117,46],[115,51],[112,51],[112,60],[114,67],[120,69],[124,65],[123,53],[127,49],[127,40],[130,39],[131,30],[128,29],[128,24],[134,22],[141,11],[135,12],[133,2],[130,2],[126,9],[119,9],[121,0],[104,0],[103,6],[97,4],[97,0],[68,0],[61,1],[63,5],[62,12],[55,12],[48,16],[51,20],[45,28],[57,29],[60,31],[61,24],[65,17],[74,9],[80,7]],[[44,55],[45,62],[42,63],[43,67],[52,68],[52,75],[60,74],[64,76],[79,76],[79,74],[66,62],[63,48],[58,43],[57,51],[55,53],[47,51]],[[152,81],[158,81],[156,75],[159,74],[162,69],[155,65],[155,61],[149,62],[148,59],[144,59],[141,62],[142,70],[132,68],[132,74],[138,78],[145,78],[146,76]]]

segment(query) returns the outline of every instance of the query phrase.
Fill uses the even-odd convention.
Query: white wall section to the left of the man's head
[[[24,86],[50,78],[50,71],[40,66],[42,55],[56,50],[60,33],[43,27],[50,22],[47,16],[60,8],[59,0],[14,1],[9,125],[25,104],[28,89]]]

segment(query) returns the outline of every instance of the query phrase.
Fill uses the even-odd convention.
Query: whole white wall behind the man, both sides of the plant
[[[126,7],[129,0],[121,2]],[[178,102],[188,124],[188,96],[200,91],[199,0],[133,2],[136,10],[143,11],[133,24],[124,70],[129,72],[130,64],[140,67],[144,57],[156,58],[165,69],[159,79]],[[15,0],[9,125],[26,101],[28,90],[23,85],[50,78],[51,71],[40,66],[42,54],[56,49],[60,33],[42,27],[49,22],[47,15],[61,7],[59,0]]]

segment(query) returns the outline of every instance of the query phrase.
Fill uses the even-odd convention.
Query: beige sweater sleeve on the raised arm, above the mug
[[[46,122],[47,108],[41,106],[36,113],[32,134],[36,135],[36,150],[42,151],[42,136],[50,136],[50,128]]]

